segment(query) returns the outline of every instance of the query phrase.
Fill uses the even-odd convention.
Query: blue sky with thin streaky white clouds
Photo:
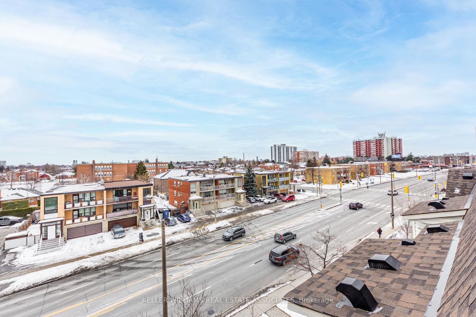
[[[474,153],[475,1],[0,2],[8,164]]]

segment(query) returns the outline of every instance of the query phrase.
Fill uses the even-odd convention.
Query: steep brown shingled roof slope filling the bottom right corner
[[[476,316],[476,202],[472,202],[459,233],[455,260],[438,308],[438,317]]]

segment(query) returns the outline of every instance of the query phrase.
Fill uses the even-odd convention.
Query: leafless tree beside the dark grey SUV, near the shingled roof
[[[340,244],[339,237],[331,234],[330,226],[317,230],[311,235],[315,242],[311,244],[299,243],[298,256],[289,256],[286,265],[293,265],[295,269],[307,271],[311,276],[321,268],[325,269],[333,260],[340,258],[347,252],[347,246]],[[337,244],[337,245],[336,245]]]

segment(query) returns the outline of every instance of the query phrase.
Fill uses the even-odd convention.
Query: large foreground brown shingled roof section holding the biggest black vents
[[[336,307],[343,297],[336,291],[336,286],[345,277],[350,277],[364,282],[377,300],[373,316],[423,317],[458,222],[444,225],[450,229],[449,232],[425,234],[422,231],[415,238],[416,245],[399,245],[401,240],[397,239],[364,240],[326,269],[288,292],[285,299],[329,316],[368,316],[369,312],[362,309],[347,305]],[[401,262],[401,266],[397,271],[366,267],[367,260],[375,254],[390,254]]]

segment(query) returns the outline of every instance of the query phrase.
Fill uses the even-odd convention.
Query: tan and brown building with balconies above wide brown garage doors
[[[40,195],[41,240],[74,239],[155,222],[146,196],[152,184],[141,180],[60,185]]]

